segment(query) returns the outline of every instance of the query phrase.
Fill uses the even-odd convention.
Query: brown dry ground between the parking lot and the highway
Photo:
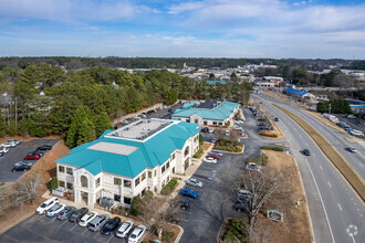
[[[291,197],[288,198],[289,203],[285,203],[285,207],[278,202],[270,202],[265,205],[267,209],[278,209],[282,211],[284,213],[284,221],[279,223],[261,214],[259,215],[260,220],[258,220],[258,223],[262,229],[270,232],[272,242],[311,242],[307,205],[295,160],[285,152],[262,150],[262,154],[267,155],[269,158],[267,163],[268,168],[282,170],[283,168],[290,167],[293,168],[295,173],[284,186],[293,191]],[[299,202],[299,205],[296,202]]]

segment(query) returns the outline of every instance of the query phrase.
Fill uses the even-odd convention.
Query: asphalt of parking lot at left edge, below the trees
[[[58,139],[33,139],[30,141],[22,141],[14,148],[9,148],[9,151],[0,157],[0,182],[15,181],[24,172],[15,171],[11,172],[13,165],[18,161],[22,161],[28,152],[34,151],[39,146],[42,145],[55,145]],[[36,160],[33,160],[35,163]]]

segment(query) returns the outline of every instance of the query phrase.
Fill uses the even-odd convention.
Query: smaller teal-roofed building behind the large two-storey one
[[[199,125],[219,125],[231,122],[240,104],[227,101],[205,99],[185,103],[181,109],[175,110],[173,118]]]

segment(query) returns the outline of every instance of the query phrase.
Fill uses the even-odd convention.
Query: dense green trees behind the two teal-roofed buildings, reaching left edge
[[[156,103],[197,98],[247,103],[251,89],[249,83],[208,85],[166,70],[131,74],[106,66],[6,67],[0,72],[0,136],[61,135],[74,147],[111,128],[109,119]]]

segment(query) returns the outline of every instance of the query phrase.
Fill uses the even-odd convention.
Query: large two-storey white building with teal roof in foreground
[[[94,207],[106,197],[129,208],[146,191],[159,193],[175,173],[184,173],[199,149],[198,125],[140,119],[73,148],[56,160],[59,186],[74,200]]]

